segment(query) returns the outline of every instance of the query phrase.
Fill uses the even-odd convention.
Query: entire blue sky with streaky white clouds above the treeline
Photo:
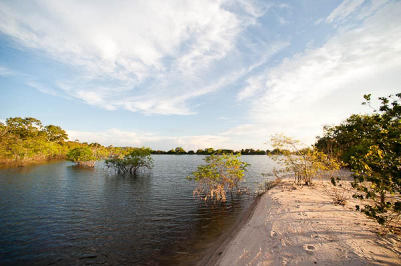
[[[0,121],[164,150],[310,145],[369,112],[363,94],[400,91],[399,14],[395,0],[0,0]]]

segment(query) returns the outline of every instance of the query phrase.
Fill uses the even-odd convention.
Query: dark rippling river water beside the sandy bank
[[[190,265],[208,255],[253,199],[200,202],[185,177],[203,156],[153,158],[153,170],[137,177],[101,162],[0,169],[0,264]],[[255,188],[273,162],[242,158],[252,164],[243,185]]]

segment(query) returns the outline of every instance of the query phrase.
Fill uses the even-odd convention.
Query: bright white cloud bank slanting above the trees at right
[[[399,13],[401,2],[389,3],[357,27],[339,28],[322,46],[250,77],[239,93],[239,98],[253,97],[250,123],[269,134],[284,132],[313,143],[323,124],[369,112],[360,105],[364,93],[377,97],[399,91]]]

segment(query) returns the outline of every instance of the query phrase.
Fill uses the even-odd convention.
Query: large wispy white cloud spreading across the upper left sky
[[[268,8],[248,0],[3,1],[0,31],[73,66],[78,75],[56,80],[72,97],[107,109],[188,114],[188,99],[244,67],[213,75]]]

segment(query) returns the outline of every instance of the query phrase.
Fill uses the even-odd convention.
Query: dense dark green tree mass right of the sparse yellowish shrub
[[[378,109],[371,105],[370,94],[363,97],[362,104],[373,113],[353,114],[339,125],[326,126],[316,146],[348,162],[358,190],[353,196],[371,200],[358,208],[390,225],[401,216],[396,199],[401,192],[401,93],[379,97]]]

